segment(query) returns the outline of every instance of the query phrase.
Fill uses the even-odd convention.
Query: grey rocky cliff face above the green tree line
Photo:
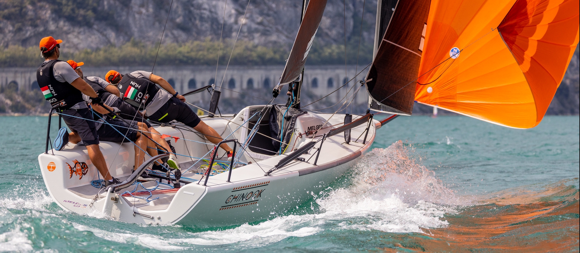
[[[343,1],[328,1],[317,41],[344,44],[346,30],[347,40],[358,42],[364,2],[346,1],[345,9]],[[120,46],[131,38],[155,44],[168,20],[164,43],[235,39],[243,22],[238,39],[288,47],[301,8],[297,0],[0,0],[0,46],[36,46],[44,36],[63,39],[74,50]],[[364,12],[362,40],[372,44],[376,2],[367,1]]]

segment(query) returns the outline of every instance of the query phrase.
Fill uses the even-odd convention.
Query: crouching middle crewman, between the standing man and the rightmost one
[[[84,80],[86,81],[86,83],[88,83],[90,85],[90,87],[92,87],[93,90],[95,90],[95,92],[97,92],[97,94],[103,100],[105,105],[107,105],[109,107],[117,108],[119,110],[119,113],[122,114],[121,117],[125,118],[126,120],[139,122],[139,124],[137,124],[137,125],[139,125],[139,127],[143,127],[144,129],[147,129],[149,132],[151,132],[152,133],[151,139],[153,139],[155,142],[160,144],[162,147],[164,147],[164,149],[166,151],[168,151],[170,153],[169,160],[171,160],[171,162],[169,162],[169,163],[178,164],[177,158],[176,158],[175,154],[173,154],[171,152],[171,148],[169,147],[169,144],[167,142],[165,142],[164,139],[161,139],[161,133],[157,132],[157,130],[155,128],[153,128],[153,126],[151,126],[151,124],[149,124],[148,121],[144,120],[143,115],[139,111],[137,111],[133,106],[131,106],[128,103],[126,103],[125,101],[123,101],[123,99],[119,98],[119,90],[117,89],[117,87],[107,83],[105,80],[103,80],[100,77],[84,76],[82,73],[82,69],[81,69],[81,66],[84,65],[84,62],[75,62],[72,59],[68,60],[67,62],[69,65],[71,65],[71,67],[75,70],[75,72],[77,72],[77,74],[79,76],[82,76],[84,78]],[[85,101],[87,101],[87,100],[88,100],[88,97],[85,97]],[[102,134],[99,133],[99,136],[102,136]],[[149,136],[149,135],[147,135],[147,136]],[[104,139],[102,139],[102,140],[104,140]],[[150,146],[155,147],[154,143],[151,143]],[[157,155],[157,152],[156,151],[153,152],[150,148],[147,150],[147,152],[149,154],[151,154],[152,156]]]

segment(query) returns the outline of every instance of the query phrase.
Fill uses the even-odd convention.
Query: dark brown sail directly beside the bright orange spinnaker
[[[411,115],[430,2],[381,1],[378,32],[390,21],[366,78],[372,110]]]

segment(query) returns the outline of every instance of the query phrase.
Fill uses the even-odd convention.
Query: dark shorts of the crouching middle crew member
[[[117,119],[107,119],[107,123],[103,123],[97,133],[99,139],[103,142],[135,142],[137,140],[137,121],[128,121],[132,124],[129,129],[124,121]]]

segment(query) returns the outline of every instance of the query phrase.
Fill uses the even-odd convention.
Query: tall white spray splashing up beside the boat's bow
[[[409,157],[401,141],[368,152],[346,177],[349,187],[320,192],[323,197],[316,199],[325,210],[321,216],[343,219],[346,228],[423,232],[447,225],[441,218],[458,203],[432,171]],[[356,218],[365,221],[353,224]]]

